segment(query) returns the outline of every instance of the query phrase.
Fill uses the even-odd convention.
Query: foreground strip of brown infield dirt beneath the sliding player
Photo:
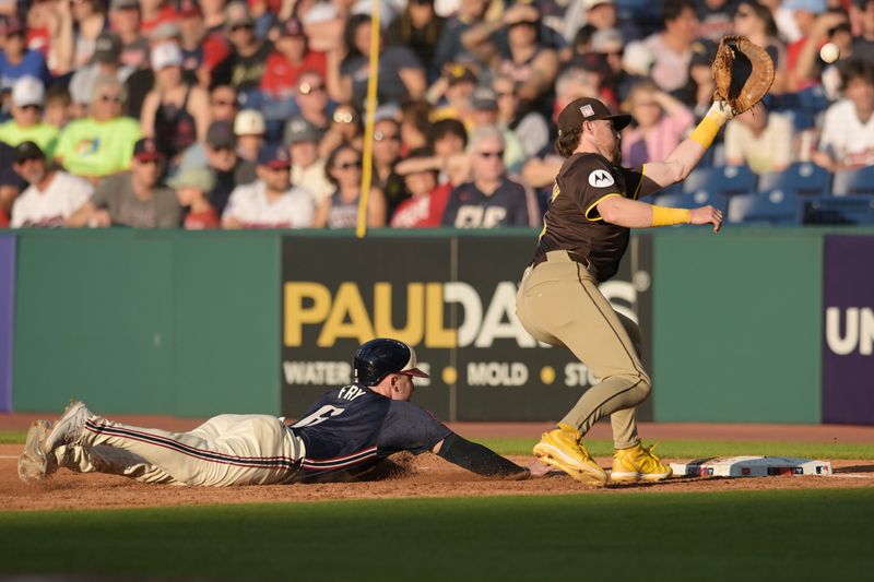
[[[80,475],[59,471],[51,479],[25,485],[17,478],[12,458],[21,446],[0,446],[0,510],[99,509],[202,506],[215,503],[270,503],[414,497],[476,497],[494,495],[610,495],[748,489],[858,488],[874,486],[874,462],[839,461],[831,477],[672,478],[660,484],[584,487],[567,476],[527,482],[495,482],[477,477],[442,459],[424,454],[399,459],[399,471],[383,480],[352,484],[252,487],[170,487],[141,485],[110,475]],[[519,463],[525,458],[512,458]],[[599,459],[610,466],[610,459]]]

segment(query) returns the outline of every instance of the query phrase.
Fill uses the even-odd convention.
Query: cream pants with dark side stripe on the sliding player
[[[92,416],[84,432],[78,446],[52,451],[59,466],[143,483],[211,487],[290,483],[306,452],[304,441],[282,419],[261,414],[214,416],[189,432]]]

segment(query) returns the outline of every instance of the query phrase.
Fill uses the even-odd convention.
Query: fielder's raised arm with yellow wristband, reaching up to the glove
[[[685,180],[713,143],[719,130],[732,117],[731,107],[727,103],[714,102],[698,127],[665,159],[648,162],[643,166],[643,182],[640,185],[639,195],[645,197]]]

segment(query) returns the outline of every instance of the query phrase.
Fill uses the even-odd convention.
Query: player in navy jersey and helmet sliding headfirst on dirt
[[[114,423],[73,402],[58,421],[31,427],[19,476],[28,483],[67,467],[211,487],[347,480],[400,451],[432,451],[489,477],[530,475],[410,402],[413,378],[427,375],[406,344],[367,342],[353,368],[352,384],[327,392],[292,426],[275,416],[224,414],[190,432],[167,432]]]

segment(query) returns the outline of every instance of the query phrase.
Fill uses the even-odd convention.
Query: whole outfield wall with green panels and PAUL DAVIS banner
[[[636,237],[605,294],[638,314],[650,343],[654,390],[641,417],[822,421],[824,248],[835,234],[874,237],[690,227]],[[107,414],[293,415],[349,373],[358,335],[387,326],[422,337],[434,383],[418,396],[445,419],[512,419],[516,409],[555,419],[591,382],[565,351],[513,332],[507,305],[534,230],[3,235],[15,237],[14,261],[3,259],[14,272],[14,411],[81,397]],[[846,309],[861,322],[854,365],[871,361],[864,309]],[[853,347],[845,328],[831,332],[841,353]]]

